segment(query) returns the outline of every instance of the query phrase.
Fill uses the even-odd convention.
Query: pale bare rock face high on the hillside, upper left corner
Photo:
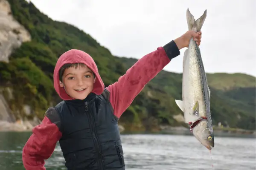
[[[12,50],[26,41],[31,41],[29,32],[12,17],[8,1],[0,0],[0,61],[9,62]]]

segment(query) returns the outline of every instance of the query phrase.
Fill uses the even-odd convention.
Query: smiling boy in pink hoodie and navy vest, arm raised
[[[63,99],[48,108],[23,148],[26,170],[46,170],[59,141],[68,170],[125,170],[118,119],[144,86],[201,32],[187,31],[139,59],[117,82],[104,88],[97,66],[85,52],[69,50],[58,59],[54,88]]]

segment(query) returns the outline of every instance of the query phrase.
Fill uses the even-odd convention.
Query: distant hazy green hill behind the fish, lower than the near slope
[[[129,68],[137,59],[120,58]],[[255,129],[255,77],[246,74],[207,74],[211,90],[212,119],[215,125]],[[182,74],[161,71],[148,86],[164,91],[175,99],[181,99]]]

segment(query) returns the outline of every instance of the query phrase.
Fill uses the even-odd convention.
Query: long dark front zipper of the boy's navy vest
[[[93,119],[93,113],[91,113],[89,111],[89,107],[88,107],[88,102],[84,102],[85,104],[85,111],[86,112],[89,112],[88,115],[88,118],[89,118],[89,122],[90,122],[90,125],[91,125],[91,128],[92,128],[92,133],[93,133],[93,142],[96,143],[96,149],[99,153],[99,159],[100,159],[100,163],[99,163],[99,166],[100,166],[100,170],[103,170],[103,166],[104,166],[104,163],[103,163],[103,158],[102,158],[102,153],[101,153],[101,150],[100,150],[100,145],[99,145],[99,139],[97,138],[96,134],[95,134],[95,122],[94,122],[94,119]]]

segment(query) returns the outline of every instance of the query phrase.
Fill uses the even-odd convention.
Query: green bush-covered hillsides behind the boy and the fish
[[[13,51],[9,62],[0,62],[0,89],[16,119],[40,119],[60,101],[52,73],[58,57],[76,48],[95,60],[105,86],[118,80],[136,59],[115,57],[89,34],[70,24],[53,21],[25,0],[8,0],[13,17],[31,34]],[[17,33],[18,34],[18,33]],[[157,48],[157,47],[156,47]],[[245,74],[207,74],[211,89],[213,124],[255,129],[255,77]],[[181,99],[182,74],[161,71],[134,99],[120,119],[129,130],[159,130],[159,125],[183,125],[175,99]],[[13,98],[7,89],[12,89]],[[31,107],[27,115],[24,105]],[[129,126],[129,127],[128,127]]]

